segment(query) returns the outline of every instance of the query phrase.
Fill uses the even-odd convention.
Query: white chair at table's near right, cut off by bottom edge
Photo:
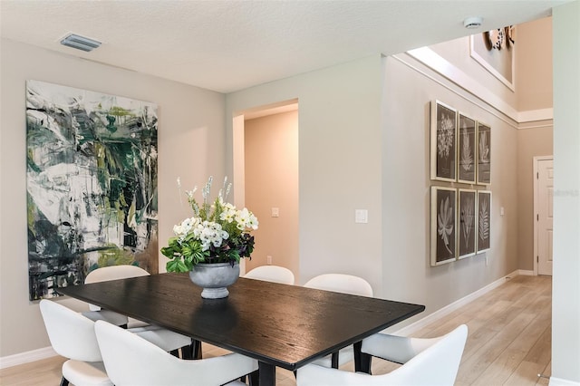
[[[398,359],[405,360],[404,364],[392,372],[381,375],[344,372],[307,364],[298,369],[296,386],[450,386],[457,377],[467,337],[468,328],[462,324],[447,335],[423,342],[426,344],[414,341],[414,338],[404,338],[406,341],[396,343],[397,348],[405,352],[404,355],[398,356]],[[366,345],[366,350],[370,351],[368,353],[374,352],[380,356],[397,350],[388,347],[393,342],[389,335],[378,333],[366,339],[371,342]],[[364,345],[364,340],[362,344]]]

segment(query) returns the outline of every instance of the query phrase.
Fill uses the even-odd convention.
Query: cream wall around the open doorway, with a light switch
[[[374,55],[227,94],[228,146],[232,146],[231,117],[235,113],[296,98],[297,284],[314,275],[350,273],[368,280],[374,293],[382,296],[381,57]],[[229,162],[231,169],[233,160]],[[354,222],[355,209],[368,210],[368,223]]]

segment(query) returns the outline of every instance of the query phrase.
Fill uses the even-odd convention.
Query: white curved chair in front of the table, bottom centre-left
[[[229,353],[184,361],[111,323],[98,321],[95,333],[109,378],[116,386],[235,385],[257,371],[257,361]]]

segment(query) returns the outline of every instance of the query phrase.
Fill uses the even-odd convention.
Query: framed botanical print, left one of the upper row
[[[457,176],[457,111],[431,101],[430,111],[430,177],[455,181]]]

